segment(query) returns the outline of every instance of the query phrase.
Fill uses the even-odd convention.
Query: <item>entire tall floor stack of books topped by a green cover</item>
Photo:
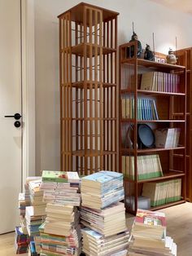
[[[39,227],[41,255],[79,255],[81,234],[79,210],[80,179],[76,172],[43,171],[41,189],[46,221]]]

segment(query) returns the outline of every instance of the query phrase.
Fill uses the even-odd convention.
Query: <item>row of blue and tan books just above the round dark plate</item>
[[[122,118],[134,118],[134,98],[121,99]],[[138,120],[159,120],[155,99],[137,98]]]

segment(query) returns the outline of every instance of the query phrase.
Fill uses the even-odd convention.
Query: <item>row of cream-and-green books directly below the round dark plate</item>
[[[134,157],[122,156],[122,172],[124,177],[134,180]],[[152,179],[163,176],[159,155],[137,157],[137,179]]]

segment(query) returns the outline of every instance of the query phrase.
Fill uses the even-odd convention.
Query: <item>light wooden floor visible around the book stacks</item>
[[[192,255],[192,203],[185,203],[161,210],[166,214],[167,233],[177,243],[177,256]],[[128,217],[131,227],[133,217]],[[14,233],[0,236],[0,256],[15,255]],[[22,254],[23,256],[27,254]]]

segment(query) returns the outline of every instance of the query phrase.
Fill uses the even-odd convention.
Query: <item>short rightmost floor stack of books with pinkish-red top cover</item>
[[[137,210],[129,242],[129,255],[177,255],[177,245],[166,236],[165,214]]]

